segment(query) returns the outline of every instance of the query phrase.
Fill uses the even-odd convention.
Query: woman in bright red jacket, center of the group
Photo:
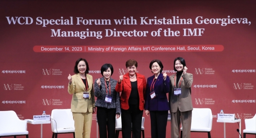
[[[136,60],[126,61],[127,73],[119,77],[116,91],[121,92],[122,138],[141,138],[141,120],[146,91],[145,76],[136,73]],[[132,133],[132,135],[131,135]]]

